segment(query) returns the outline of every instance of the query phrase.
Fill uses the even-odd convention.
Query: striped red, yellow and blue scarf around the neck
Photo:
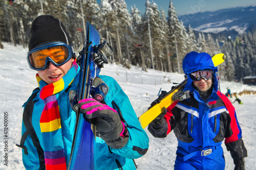
[[[73,82],[77,70],[78,66],[74,61],[67,74],[52,84],[47,84],[36,74],[36,80],[41,89],[40,98],[44,100],[45,104],[40,117],[40,129],[46,169],[67,169],[60,125],[58,93]]]

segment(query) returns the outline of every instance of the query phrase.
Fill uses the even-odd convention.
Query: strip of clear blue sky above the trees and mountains
[[[96,1],[99,4],[101,0]],[[141,14],[145,12],[146,0],[125,0],[125,2],[129,11],[131,10],[131,6],[135,4]],[[158,5],[159,9],[162,7],[167,15],[170,0],[154,0],[154,2]],[[172,2],[178,15],[256,5],[255,0],[172,0]]]

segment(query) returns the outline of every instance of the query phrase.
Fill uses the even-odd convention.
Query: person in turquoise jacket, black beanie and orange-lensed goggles
[[[59,19],[41,15],[33,21],[28,63],[37,71],[39,88],[24,104],[22,139],[18,145],[24,149],[24,166],[67,169],[76,123],[69,94],[77,90],[80,67],[70,36]],[[104,103],[93,99],[79,102],[88,118],[98,120],[95,169],[136,169],[133,159],[146,153],[147,134],[118,83],[108,76],[99,78],[109,87]],[[48,149],[56,149],[56,154],[49,156]]]

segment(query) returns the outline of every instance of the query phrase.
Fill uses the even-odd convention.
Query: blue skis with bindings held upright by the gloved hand
[[[95,120],[89,120],[80,113],[77,102],[92,97],[90,95],[92,81],[99,75],[103,63],[108,63],[106,57],[113,53],[112,47],[108,46],[106,41],[102,44],[99,42],[99,32],[87,22],[85,46],[77,59],[77,63],[81,67],[80,82],[76,95],[71,101],[77,118],[68,169],[94,169],[95,167]],[[107,50],[105,50],[106,48]]]

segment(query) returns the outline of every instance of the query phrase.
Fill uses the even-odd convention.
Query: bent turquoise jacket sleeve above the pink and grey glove
[[[100,76],[100,78],[109,86],[109,92],[105,96],[105,102],[114,109],[119,109],[125,125],[129,131],[129,140],[121,149],[110,148],[112,152],[129,158],[139,158],[147,152],[149,139],[146,132],[142,129],[137,115],[130,103],[129,98],[123,92],[119,84],[111,77]],[[112,105],[112,101],[116,103],[118,108]]]

